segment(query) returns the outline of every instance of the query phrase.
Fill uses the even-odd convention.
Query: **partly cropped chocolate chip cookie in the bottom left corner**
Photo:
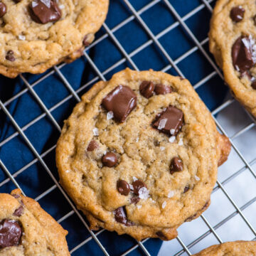
[[[19,189],[0,194],[0,256],[68,256],[67,234]]]

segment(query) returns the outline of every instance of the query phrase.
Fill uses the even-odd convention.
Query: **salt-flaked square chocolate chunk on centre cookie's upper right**
[[[156,119],[152,126],[164,132],[165,134],[174,135],[178,134],[183,125],[183,112],[176,107],[170,106],[166,110],[156,115]]]

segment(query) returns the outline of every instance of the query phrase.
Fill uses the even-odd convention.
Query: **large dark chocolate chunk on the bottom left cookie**
[[[2,220],[0,223],[0,249],[19,245],[21,234],[21,226],[18,221]]]

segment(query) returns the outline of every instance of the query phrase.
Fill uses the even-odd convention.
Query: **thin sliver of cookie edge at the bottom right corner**
[[[236,241],[213,245],[194,256],[254,256],[256,255],[256,242]]]

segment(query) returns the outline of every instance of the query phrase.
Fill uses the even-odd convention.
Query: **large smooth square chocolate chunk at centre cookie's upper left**
[[[107,111],[114,113],[118,122],[124,122],[136,107],[137,96],[130,87],[118,85],[102,100],[102,105]]]

